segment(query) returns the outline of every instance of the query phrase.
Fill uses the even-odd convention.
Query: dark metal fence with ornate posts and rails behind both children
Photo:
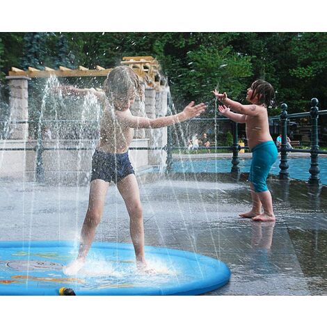
[[[280,173],[279,178],[280,180],[287,180],[289,179],[289,164],[287,161],[287,152],[304,152],[310,153],[311,161],[310,161],[310,178],[308,182],[310,184],[319,184],[319,154],[327,154],[327,151],[319,151],[319,137],[318,137],[318,119],[319,115],[327,115],[327,110],[319,111],[318,109],[318,100],[313,98],[311,100],[311,110],[305,113],[287,113],[287,104],[282,104],[281,109],[282,113],[279,116],[274,116],[269,118],[271,121],[279,121],[281,125],[281,134],[282,134],[282,141],[280,145]],[[287,122],[290,118],[303,118],[310,116],[311,122],[311,147],[308,150],[304,149],[294,149],[287,147]],[[230,121],[228,118],[193,118],[193,122],[204,122],[204,121],[213,121],[214,122],[214,129],[215,129],[215,137],[217,135],[216,131],[218,129],[218,122],[220,121]],[[29,123],[31,121],[16,121],[15,123]],[[47,124],[51,122],[50,120],[42,121],[42,124]],[[77,123],[81,123],[81,121],[76,121]],[[4,123],[4,122],[3,122]],[[89,122],[90,123],[90,122]],[[8,122],[6,122],[8,124]],[[43,182],[45,180],[45,172],[42,163],[42,153],[45,150],[93,150],[93,147],[46,147],[42,141],[42,134],[40,131],[38,132],[38,138],[36,140],[35,147],[3,147],[0,148],[0,151],[15,151],[15,150],[33,150],[36,152],[36,165],[35,165],[35,176],[37,182]],[[130,147],[130,150],[165,150],[167,152],[167,161],[166,161],[166,171],[167,173],[171,173],[173,171],[173,150],[187,150],[187,146],[175,146],[173,145],[173,135],[172,135],[172,127],[168,127],[168,138],[167,138],[167,145],[164,147]],[[231,165],[231,173],[234,175],[240,174],[239,168],[239,150],[241,149],[248,149],[248,147],[240,146],[239,145],[239,133],[238,133],[238,123],[232,122],[232,145],[231,146],[218,146],[218,141],[215,139],[214,146],[204,147],[200,146],[199,150],[231,150],[232,151],[232,165]]]

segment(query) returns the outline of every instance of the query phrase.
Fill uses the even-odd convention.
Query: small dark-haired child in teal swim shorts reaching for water
[[[246,99],[249,105],[240,104],[228,98],[226,93],[213,91],[223,105],[218,105],[221,115],[246,124],[248,147],[253,152],[248,180],[250,182],[252,209],[250,212],[239,214],[253,221],[276,221],[273,214],[271,193],[266,186],[269,170],[277,159],[278,150],[269,133],[267,107],[273,104],[275,92],[271,84],[261,79],[254,81],[248,88]],[[232,109],[232,112],[230,111]],[[262,208],[264,212],[262,213]]]

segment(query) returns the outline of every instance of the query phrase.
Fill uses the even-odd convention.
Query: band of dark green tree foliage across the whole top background
[[[210,102],[220,88],[242,101],[255,79],[269,81],[289,113],[317,97],[326,109],[327,33],[0,33],[2,79],[10,67],[113,67],[154,56],[174,102]],[[23,49],[23,51],[22,51]],[[1,77],[0,77],[1,78]],[[210,102],[212,103],[212,102]]]

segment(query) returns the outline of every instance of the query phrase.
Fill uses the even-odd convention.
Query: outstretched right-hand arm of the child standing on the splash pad
[[[176,124],[177,122],[184,122],[193,117],[199,116],[206,109],[205,104],[200,103],[194,105],[191,102],[184,108],[181,113],[176,115],[169,115],[167,117],[159,117],[155,119],[138,117],[131,115],[130,111],[116,111],[116,115],[121,123],[131,128],[160,128]]]

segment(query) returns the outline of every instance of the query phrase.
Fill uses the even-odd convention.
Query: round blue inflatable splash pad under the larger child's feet
[[[77,256],[69,241],[0,242],[0,295],[196,295],[230,279],[223,262],[196,253],[145,246],[156,273],[139,273],[131,244],[94,242],[85,266],[65,276],[63,266]]]

